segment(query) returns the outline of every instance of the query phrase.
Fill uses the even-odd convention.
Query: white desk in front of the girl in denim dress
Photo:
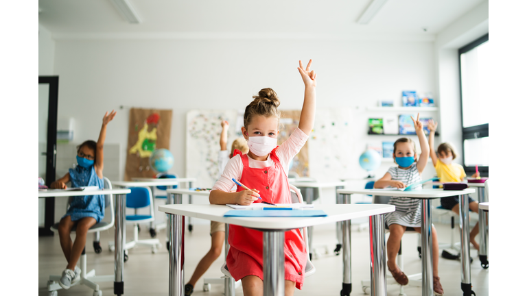
[[[124,243],[126,241],[126,223],[124,223],[124,198],[130,189],[102,189],[88,191],[73,190],[46,190],[38,191],[38,198],[42,197],[71,197],[84,195],[115,195],[115,259],[114,271],[115,281],[113,282],[113,293],[124,294]]]

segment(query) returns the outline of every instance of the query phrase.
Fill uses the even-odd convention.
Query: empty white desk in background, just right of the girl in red
[[[302,179],[297,179],[296,181],[292,182],[290,181],[289,184],[292,184],[298,188],[305,188],[306,194],[304,197],[304,201],[306,204],[313,204],[314,199],[314,190],[318,188],[318,190],[321,190],[323,188],[335,188],[335,189],[343,189],[344,186],[347,185],[347,182],[309,182],[309,181],[302,181]],[[340,204],[338,202],[339,195],[336,193],[336,200],[337,204]],[[322,197],[318,197],[322,198]],[[340,248],[342,247],[342,223],[337,223],[337,247],[334,250],[336,254],[339,254]],[[307,227],[307,236],[309,236],[309,251],[313,252],[314,249],[312,248],[313,245],[313,227]],[[312,253],[309,254],[309,258],[312,259]]]

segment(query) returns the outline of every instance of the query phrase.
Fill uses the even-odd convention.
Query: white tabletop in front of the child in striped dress
[[[378,196],[397,196],[397,197],[414,197],[420,199],[434,199],[439,197],[449,197],[453,195],[466,195],[475,193],[473,188],[465,190],[443,190],[443,189],[421,189],[411,191],[401,190],[384,190],[384,189],[338,189],[338,194],[364,194]]]

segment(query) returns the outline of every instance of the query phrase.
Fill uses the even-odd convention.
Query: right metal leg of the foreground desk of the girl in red
[[[384,214],[370,216],[371,295],[386,296],[386,240]]]

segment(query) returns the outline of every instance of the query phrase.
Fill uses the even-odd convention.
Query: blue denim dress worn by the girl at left
[[[104,181],[97,176],[94,166],[86,169],[78,165],[75,169],[69,169],[69,180],[71,187],[97,186],[101,189],[104,188]],[[71,197],[71,199],[69,209],[64,217],[71,216],[71,221],[93,217],[97,223],[104,218],[104,195],[84,195]]]

